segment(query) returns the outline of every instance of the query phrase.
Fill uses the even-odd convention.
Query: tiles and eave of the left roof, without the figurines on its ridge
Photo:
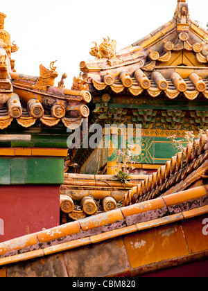
[[[60,121],[67,127],[81,125],[89,116],[86,103],[91,100],[88,91],[61,89],[51,86],[47,91],[33,88],[37,77],[11,73],[14,92],[3,93],[0,108],[0,129],[8,127],[15,118],[22,127],[31,127],[37,119],[53,127]],[[70,115],[70,112],[74,114]]]

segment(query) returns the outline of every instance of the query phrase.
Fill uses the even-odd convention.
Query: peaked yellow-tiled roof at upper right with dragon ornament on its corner
[[[208,33],[191,21],[188,11],[186,2],[178,2],[173,20],[117,53],[110,39],[96,44],[91,51],[96,60],[80,62],[92,92],[110,89],[134,96],[147,91],[153,98],[194,100],[199,94],[208,98]],[[112,48],[112,56],[99,54],[105,46]]]

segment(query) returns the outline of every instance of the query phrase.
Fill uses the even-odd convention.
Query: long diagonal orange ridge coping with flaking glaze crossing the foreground
[[[207,204],[207,186],[200,186],[69,222],[1,243],[0,265],[62,252],[138,230],[193,218],[207,213]]]

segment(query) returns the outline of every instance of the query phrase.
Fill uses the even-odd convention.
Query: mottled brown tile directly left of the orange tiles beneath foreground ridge
[[[123,240],[82,247],[64,253],[70,277],[105,277],[129,270]]]

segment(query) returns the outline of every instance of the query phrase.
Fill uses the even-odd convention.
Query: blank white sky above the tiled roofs
[[[101,44],[109,36],[116,51],[145,37],[173,19],[177,0],[1,0],[0,11],[7,15],[5,30],[19,51],[12,54],[19,73],[39,76],[39,66],[55,64],[60,80],[67,73],[66,87],[80,73],[82,60],[93,41]],[[187,0],[191,19],[206,27],[207,0]]]

